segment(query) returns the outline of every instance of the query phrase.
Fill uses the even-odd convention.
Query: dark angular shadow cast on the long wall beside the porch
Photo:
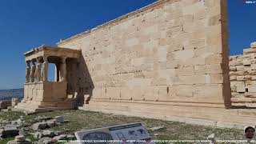
[[[90,72],[86,65],[86,61],[82,54],[78,62],[78,97],[77,104],[82,106],[83,104],[88,104],[94,90],[94,82],[90,77]]]

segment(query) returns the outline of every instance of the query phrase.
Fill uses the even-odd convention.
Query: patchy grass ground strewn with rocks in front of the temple
[[[74,132],[78,130],[116,126],[131,122],[142,122],[155,140],[206,140],[210,134],[214,134],[216,139],[223,140],[243,138],[242,130],[83,110],[57,110],[32,115],[2,111],[0,112],[0,124],[2,125],[0,127],[2,138],[0,143],[60,143],[58,140],[75,140]]]

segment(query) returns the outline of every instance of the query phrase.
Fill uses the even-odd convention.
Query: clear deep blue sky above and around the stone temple
[[[0,89],[25,82],[23,53],[43,43],[89,30],[154,0],[1,0]],[[228,0],[230,54],[242,54],[256,41],[256,4]],[[50,70],[53,74],[53,70]]]

